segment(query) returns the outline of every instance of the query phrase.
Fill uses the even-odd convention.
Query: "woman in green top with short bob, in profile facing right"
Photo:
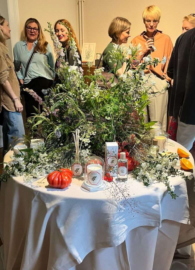
[[[110,56],[110,52],[113,50],[114,44],[121,45],[122,43],[127,43],[128,38],[130,37],[130,26],[131,23],[122,17],[116,17],[113,19],[113,21],[110,23],[109,29],[108,29],[108,35],[112,38],[112,41],[108,44],[106,49],[104,50],[103,54],[103,68],[104,70],[113,70],[114,66],[116,66],[116,61],[113,61],[112,63],[109,62],[109,60],[112,61],[112,58]],[[110,52],[109,52],[110,51]],[[126,62],[122,62],[120,60],[117,65],[117,72],[119,75],[123,74],[126,69]],[[114,73],[114,70],[113,70]]]

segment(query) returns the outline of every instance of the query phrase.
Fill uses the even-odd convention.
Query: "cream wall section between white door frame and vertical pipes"
[[[78,36],[78,5],[76,0],[18,0],[18,8],[20,31],[30,17],[36,18],[40,22],[42,30],[47,28],[47,22],[54,25],[58,19],[67,19]],[[53,48],[48,32],[44,32],[44,35]]]

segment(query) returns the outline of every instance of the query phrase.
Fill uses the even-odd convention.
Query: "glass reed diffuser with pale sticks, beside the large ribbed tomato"
[[[73,176],[75,178],[79,178],[83,176],[83,163],[81,162],[81,157],[80,157],[80,150],[81,146],[79,148],[79,129],[76,129],[76,135],[73,134],[74,136],[74,142],[75,142],[75,157],[71,160],[71,170],[73,172]],[[82,142],[81,142],[82,145]]]

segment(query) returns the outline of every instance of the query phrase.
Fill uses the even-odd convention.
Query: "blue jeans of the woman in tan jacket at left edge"
[[[25,135],[24,124],[22,120],[22,114],[19,112],[9,112],[2,107],[2,113],[4,117],[3,121],[3,146],[4,151],[9,150],[12,146],[12,137],[22,138]]]

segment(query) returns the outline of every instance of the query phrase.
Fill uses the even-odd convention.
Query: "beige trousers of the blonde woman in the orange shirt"
[[[148,104],[149,116],[147,115],[146,122],[148,119],[158,120],[162,124],[162,130],[167,129],[167,106],[168,106],[168,91],[162,91],[162,89],[167,86],[167,81],[163,80],[153,73],[146,74],[144,76],[146,80],[145,86],[151,87],[148,91],[150,103]],[[151,81],[155,82],[155,85],[151,84]],[[155,96],[154,96],[155,94]],[[147,113],[147,108],[145,108],[145,112]]]

